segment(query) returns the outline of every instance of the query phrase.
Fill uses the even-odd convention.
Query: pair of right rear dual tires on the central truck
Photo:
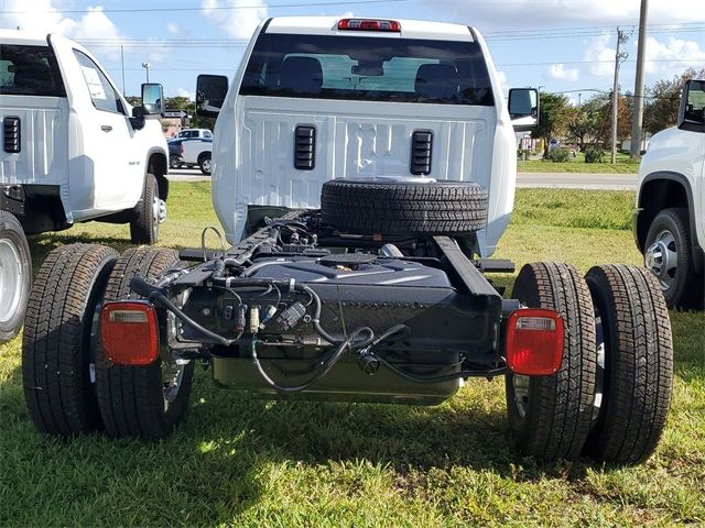
[[[595,266],[585,279],[557,263],[527,264],[512,296],[565,321],[561,370],[507,376],[509,422],[519,448],[544,459],[632,464],[665,426],[673,345],[657,278],[636,266]]]

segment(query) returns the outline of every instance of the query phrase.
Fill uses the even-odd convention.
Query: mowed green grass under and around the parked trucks
[[[202,229],[217,224],[209,186],[172,188],[163,243],[197,246]],[[637,264],[622,229],[632,200],[629,193],[519,190],[497,256],[518,265],[566,261],[583,272]],[[123,249],[127,235],[124,227],[95,223],[31,243],[39,262],[59,243]],[[496,279],[511,286],[513,276]],[[521,457],[502,380],[471,381],[446,404],[423,408],[254,400],[216,389],[198,371],[189,416],[167,440],[59,440],[29,420],[15,339],[0,353],[0,526],[702,525],[705,315],[671,317],[676,375],[668,428],[654,457],[636,468]]]

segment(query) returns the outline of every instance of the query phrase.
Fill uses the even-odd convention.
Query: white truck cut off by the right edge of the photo
[[[705,305],[705,80],[683,88],[677,125],[639,167],[634,239],[670,306]]]

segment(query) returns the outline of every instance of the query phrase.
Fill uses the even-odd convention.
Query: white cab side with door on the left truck
[[[129,209],[142,191],[145,160],[137,152],[128,107],[85,51],[52,37],[70,79],[69,187],[75,220]]]

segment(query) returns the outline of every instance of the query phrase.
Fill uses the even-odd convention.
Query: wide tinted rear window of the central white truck
[[[262,34],[246,96],[492,106],[474,42]]]

